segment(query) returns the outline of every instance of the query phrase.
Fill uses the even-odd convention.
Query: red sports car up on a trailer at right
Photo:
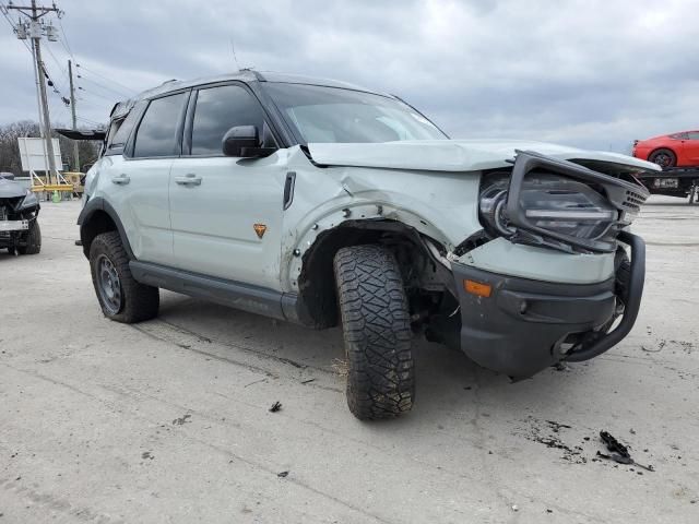
[[[699,166],[699,131],[683,131],[633,142],[633,156],[668,167]]]

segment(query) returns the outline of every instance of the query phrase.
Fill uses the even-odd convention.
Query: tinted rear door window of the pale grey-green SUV
[[[164,96],[149,104],[135,133],[134,157],[177,154],[177,130],[186,95],[186,93],[178,93]]]

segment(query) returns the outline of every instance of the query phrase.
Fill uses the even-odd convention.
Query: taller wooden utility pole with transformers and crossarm
[[[56,169],[56,158],[54,157],[54,141],[51,140],[51,120],[48,112],[48,99],[46,98],[46,73],[44,70],[44,61],[42,60],[42,45],[39,41],[46,32],[46,36],[49,40],[56,39],[54,26],[45,26],[42,24],[42,17],[50,12],[56,12],[59,16],[62,12],[54,4],[50,8],[37,7],[36,0],[32,0],[32,5],[13,5],[9,4],[8,10],[19,11],[29,19],[28,24],[23,24],[23,34],[28,33],[32,39],[32,51],[35,60],[35,68],[38,75],[38,88],[39,88],[39,126],[42,128],[42,134],[46,144],[46,156],[48,157],[48,171],[46,176],[47,183],[51,183],[54,175],[58,177],[58,170]],[[22,22],[21,22],[22,24]],[[28,32],[27,29],[28,25]],[[17,38],[22,38],[20,32],[17,32]],[[26,36],[25,36],[26,38]],[[57,180],[58,181],[58,178]]]

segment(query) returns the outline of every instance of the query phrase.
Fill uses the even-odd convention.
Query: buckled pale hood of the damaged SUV
[[[380,167],[430,171],[479,171],[508,167],[514,151],[535,151],[564,160],[587,160],[627,166],[637,171],[657,171],[660,167],[631,156],[587,151],[545,142],[518,140],[425,140],[382,143],[311,143],[313,162],[328,166]]]

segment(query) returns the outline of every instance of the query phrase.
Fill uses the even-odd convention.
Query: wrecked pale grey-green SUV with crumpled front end
[[[105,315],[151,319],[166,288],[341,325],[362,419],[411,409],[419,335],[521,379],[639,310],[635,175],[657,166],[629,156],[449,140],[398,97],[256,71],[167,82],[82,138],[104,140],[79,224]]]

